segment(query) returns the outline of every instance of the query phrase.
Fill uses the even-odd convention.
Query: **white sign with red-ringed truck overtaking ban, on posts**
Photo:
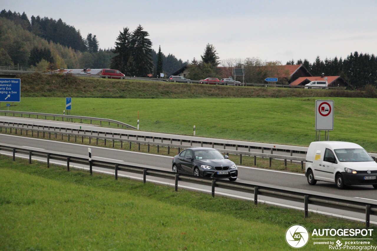
[[[329,140],[329,131],[334,130],[334,100],[316,100],[316,140],[319,131],[318,141],[321,130],[325,131],[325,139]]]

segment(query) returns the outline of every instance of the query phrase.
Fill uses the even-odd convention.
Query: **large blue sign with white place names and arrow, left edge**
[[[0,102],[20,102],[21,80],[0,78]]]

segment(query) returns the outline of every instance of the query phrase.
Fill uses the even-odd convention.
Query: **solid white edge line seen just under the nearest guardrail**
[[[8,153],[2,153],[2,154],[3,155],[12,156],[11,154],[8,154]],[[24,156],[17,156],[17,157],[28,159],[28,157],[24,157]],[[34,158],[32,158],[32,159],[34,159]],[[47,162],[47,161],[45,161],[43,159],[35,159],[35,160],[41,161],[41,162]],[[65,164],[63,164],[63,163],[51,162],[51,161],[50,161],[50,163],[57,164],[57,165],[64,165],[65,166]],[[87,168],[87,167],[80,167],[80,166],[75,166],[75,165],[69,165],[69,166],[70,167],[74,167],[74,168],[78,168],[78,169],[89,170],[89,168]],[[98,173],[106,173],[106,174],[114,174],[115,173],[115,171],[108,172],[108,171],[101,171],[101,170],[96,170],[96,169],[93,169],[93,171],[96,171]],[[129,176],[129,175],[125,175],[125,174],[118,174],[118,176],[130,178],[130,179],[135,179],[135,180],[143,180],[143,178],[139,178],[139,177],[135,177],[135,176]],[[146,181],[149,181],[149,182],[152,182],[152,183],[156,183],[156,184],[163,184],[163,185],[169,185],[171,187],[175,187],[175,184],[172,184],[172,183],[169,183],[169,182],[154,181],[152,179],[146,179]],[[210,191],[210,190],[205,190],[205,189],[201,189],[201,188],[187,187],[187,186],[184,186],[184,185],[178,185],[178,187],[187,188],[187,189],[190,189],[190,190],[203,191],[203,192],[206,192],[206,193],[212,193],[212,191]],[[220,195],[224,195],[224,196],[228,196],[228,197],[235,197],[235,198],[238,198],[238,199],[254,200],[254,199],[249,198],[249,197],[238,196],[238,195],[234,195],[234,194],[221,193],[221,192],[216,192],[216,191],[215,191],[215,194],[220,194]],[[301,208],[301,207],[296,207],[296,206],[291,206],[291,205],[284,205],[284,204],[281,204],[281,203],[270,202],[270,201],[267,201],[267,200],[258,200],[258,201],[262,202],[262,203],[265,203],[265,204],[271,204],[271,205],[275,205],[275,206],[287,207],[287,208],[292,208],[292,209],[297,209],[297,210],[300,210],[300,211],[304,211],[304,209]],[[345,216],[345,215],[341,215],[341,214],[327,213],[327,212],[323,212],[323,211],[319,211],[319,210],[313,210],[313,209],[308,209],[308,211],[309,212],[313,212],[313,213],[318,213],[318,214],[323,214],[323,215],[328,215],[328,216],[334,216],[334,217],[338,217],[338,218],[348,219],[348,220],[355,220],[355,221],[364,221],[365,220],[365,219],[359,219],[359,218],[355,218],[355,217],[349,217],[349,216]],[[377,222],[375,222],[375,221],[370,221],[369,223],[377,225]]]

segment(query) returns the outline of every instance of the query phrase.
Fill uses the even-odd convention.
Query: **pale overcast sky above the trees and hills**
[[[141,24],[152,48],[183,61],[200,59],[207,43],[220,60],[259,57],[313,62],[317,55],[377,55],[376,0],[2,0],[1,9],[49,17],[114,47],[124,27]]]

